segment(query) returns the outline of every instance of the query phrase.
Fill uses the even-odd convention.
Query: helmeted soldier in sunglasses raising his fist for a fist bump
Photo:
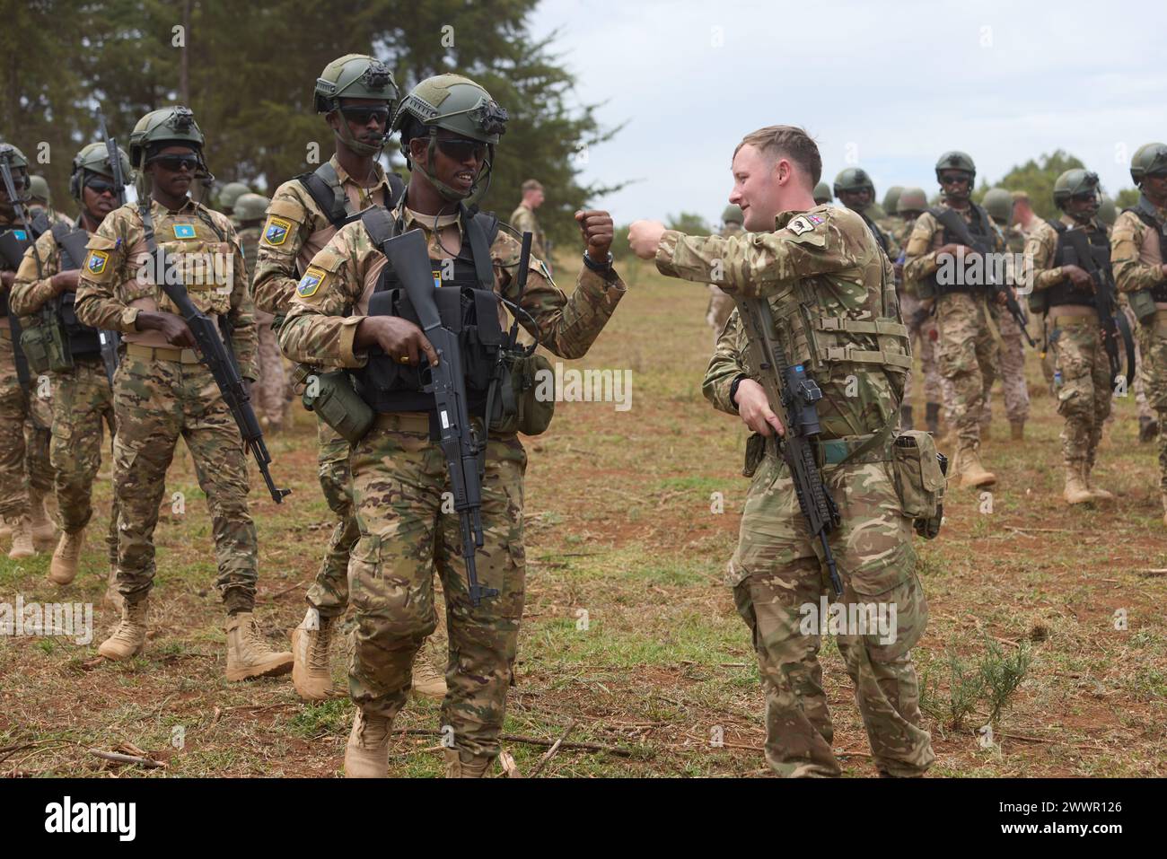
[[[397,231],[424,232],[438,270],[436,285],[464,288],[473,282],[485,292],[482,284],[488,278],[492,281],[488,294],[513,301],[518,242],[505,231],[495,231],[491,216],[480,214],[471,219],[463,203],[488,179],[505,117],[485,90],[457,75],[418,84],[393,120],[412,174],[405,196],[389,217]],[[624,294],[608,252],[612,218],[607,212],[586,211],[578,212],[576,219],[587,253],[575,292],[565,296],[545,275],[543,263],[532,257],[520,302],[526,313],[519,314],[529,334],[565,357],[587,352]],[[480,238],[473,240],[481,239],[478,251],[470,245],[474,236]],[[483,245],[488,252],[481,250]],[[489,253],[489,265],[480,253]],[[356,777],[387,773],[390,726],[405,704],[414,656],[436,623],[436,567],[449,629],[449,692],[442,704],[442,724],[453,727],[453,748],[446,750],[446,771],[481,776],[498,754],[523,612],[526,453],[513,432],[491,431],[482,482],[485,544],[477,553],[477,573],[484,586],[498,593],[476,606],[469,599],[463,563],[455,554],[461,545],[459,517],[442,511],[449,481],[446,460],[431,437],[433,412],[419,410],[432,397],[417,391],[420,378],[412,370],[400,369],[418,366],[422,354],[431,362],[436,356],[412,322],[369,315],[375,288],[383,292],[398,284],[365,223],[352,223],[313,258],[280,328],[285,355],[350,368],[361,396],[377,412],[373,428],[354,446],[350,460],[361,540],[349,567],[357,619],[349,687],[358,710],[344,770]],[[474,350],[464,348],[470,361]],[[397,373],[404,387],[391,390],[382,384],[385,376]]]

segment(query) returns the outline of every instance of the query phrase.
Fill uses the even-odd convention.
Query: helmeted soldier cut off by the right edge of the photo
[[[1139,202],[1111,231],[1111,265],[1138,327],[1142,390],[1158,413],[1160,491],[1167,525],[1167,145],[1147,144],[1131,160]]]

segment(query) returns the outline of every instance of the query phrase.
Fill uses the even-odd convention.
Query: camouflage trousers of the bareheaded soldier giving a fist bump
[[[911,521],[901,515],[889,462],[824,469],[841,526],[831,550],[845,606],[894,607],[892,636],[847,628],[838,636],[872,756],[883,773],[922,775],[935,760],[920,727],[920,687],[910,648],[928,622],[928,602],[915,574]],[[738,550],[729,561],[738,612],[749,627],[766,691],[766,760],[783,776],[834,776],[834,728],[818,662],[820,624],[804,622],[830,593],[825,567],[799,511],[787,465],[762,460],[742,511]],[[890,637],[890,641],[887,638]]]

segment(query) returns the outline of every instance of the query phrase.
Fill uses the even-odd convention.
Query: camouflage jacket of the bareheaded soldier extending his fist
[[[787,359],[804,363],[823,391],[823,438],[879,432],[897,414],[911,365],[907,328],[892,265],[858,214],[822,204],[782,212],[774,232],[733,238],[668,230],[656,263],[670,277],[769,300]],[[735,309],[703,384],[714,407],[738,413],[729,391],[741,375],[760,378]]]

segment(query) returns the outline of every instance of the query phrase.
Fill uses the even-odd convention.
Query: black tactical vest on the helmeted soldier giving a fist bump
[[[434,275],[434,298],[442,326],[459,335],[466,378],[467,407],[470,414],[485,413],[490,378],[503,345],[499,322],[499,299],[495,292],[490,245],[498,233],[498,218],[487,212],[470,215],[461,207],[462,246],[457,257],[431,259]],[[370,221],[364,218],[370,236],[378,245],[389,236],[373,233]],[[394,233],[400,222],[394,224]],[[447,277],[443,277],[447,275]],[[386,263],[373,293],[369,298],[370,316],[400,316],[420,326],[417,312],[398,279]],[[433,412],[433,394],[422,390],[422,366],[399,364],[380,349],[369,350],[369,363],[354,373],[357,393],[373,411]]]

